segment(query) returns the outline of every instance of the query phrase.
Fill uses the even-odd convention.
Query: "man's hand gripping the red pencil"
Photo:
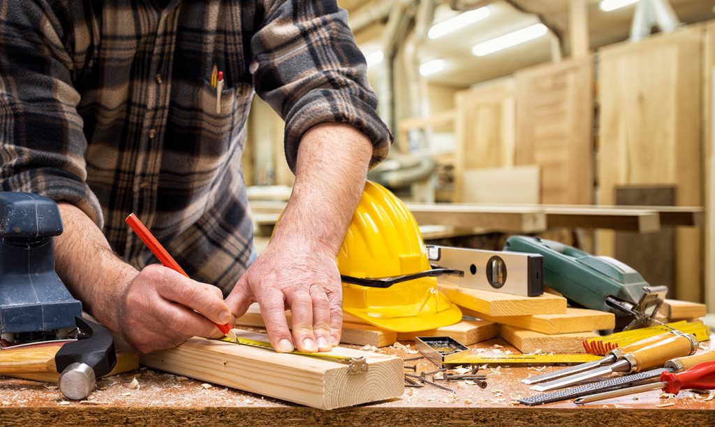
[[[122,336],[142,353],[172,348],[192,336],[220,338],[214,323],[232,321],[219,288],[149,265],[124,290],[117,318]]]

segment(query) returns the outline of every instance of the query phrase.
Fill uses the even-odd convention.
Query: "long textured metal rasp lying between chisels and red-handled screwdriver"
[[[543,405],[544,403],[567,401],[568,399],[591,396],[596,393],[618,390],[624,387],[640,386],[643,383],[656,381],[656,378],[659,378],[661,373],[683,372],[698,363],[704,362],[715,362],[715,350],[708,350],[704,353],[668,360],[664,365],[665,368],[646,370],[645,372],[634,373],[633,375],[611,378],[605,381],[567,388],[565,390],[552,391],[551,393],[541,393],[520,398],[518,401],[527,406],[536,406]]]

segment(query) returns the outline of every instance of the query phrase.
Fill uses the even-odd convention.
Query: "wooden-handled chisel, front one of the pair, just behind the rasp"
[[[565,378],[558,378],[548,383],[531,386],[531,390],[549,391],[580,384],[592,378],[601,378],[611,373],[637,373],[662,366],[671,358],[694,354],[698,349],[698,340],[693,335],[675,335],[631,353],[623,355],[612,365],[602,366]]]

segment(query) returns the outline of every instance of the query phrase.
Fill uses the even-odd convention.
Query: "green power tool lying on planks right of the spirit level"
[[[504,250],[543,256],[543,283],[572,303],[618,316],[624,330],[648,326],[663,303],[668,288],[649,286],[643,276],[611,257],[595,257],[583,250],[539,237],[511,236]]]

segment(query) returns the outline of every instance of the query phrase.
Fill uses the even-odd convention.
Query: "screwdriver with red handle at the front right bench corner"
[[[684,388],[698,388],[699,390],[715,389],[715,362],[698,363],[689,370],[681,373],[664,372],[661,373],[660,381],[657,383],[644,384],[621,390],[607,391],[583,398],[578,398],[573,403],[583,405],[583,403],[603,401],[604,399],[628,396],[629,394],[642,393],[644,391],[658,390],[661,388],[666,393],[678,394]]]

